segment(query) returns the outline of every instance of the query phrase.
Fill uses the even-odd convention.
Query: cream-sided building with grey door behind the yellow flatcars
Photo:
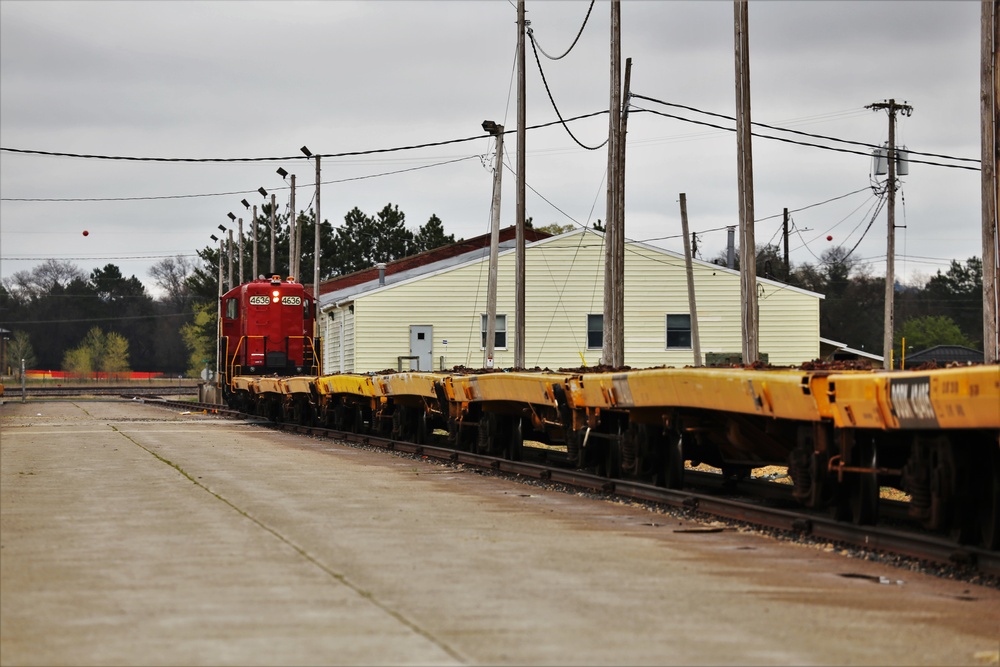
[[[531,243],[525,253],[525,362],[550,369],[600,363],[603,235],[577,230]],[[320,299],[323,370],[482,368],[488,252],[422,267],[395,282],[371,281]],[[514,251],[502,249],[494,366],[513,364]],[[703,357],[742,349],[739,273],[694,261]],[[758,280],[760,351],[773,365],[819,357],[821,295]],[[684,258],[640,243],[625,255],[625,363],[693,363]],[[591,335],[588,340],[588,323]],[[668,324],[670,331],[668,333]]]

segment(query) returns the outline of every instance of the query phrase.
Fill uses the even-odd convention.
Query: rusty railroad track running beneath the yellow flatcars
[[[150,403],[170,407],[203,409],[234,418],[253,417],[218,405],[168,400],[150,401]],[[710,473],[686,472],[686,480],[692,486],[697,485],[699,490],[665,489],[639,481],[609,479],[587,472],[571,470],[547,463],[544,460],[510,461],[485,454],[456,451],[427,444],[419,445],[371,434],[334,431],[318,426],[268,423],[274,428],[312,437],[336,438],[352,444],[379,447],[387,451],[426,457],[443,463],[488,469],[547,484],[563,485],[608,496],[619,496],[676,508],[686,512],[701,513],[792,536],[810,537],[861,550],[925,561],[938,566],[967,568],[989,577],[1000,577],[1000,553],[998,552],[958,544],[940,535],[916,529],[881,525],[859,526],[836,521],[821,513],[810,513],[799,507],[787,509],[785,506],[762,504],[758,496],[765,496],[773,500],[780,499],[787,494],[786,489],[776,488],[783,487],[783,485],[772,482],[740,482],[736,487],[737,490],[746,496],[753,496],[753,499],[743,499],[735,497],[731,491],[719,493],[723,487],[721,477]],[[526,449],[532,450],[530,447]],[[544,457],[539,458],[544,459]],[[713,491],[713,489],[715,490]],[[790,494],[788,496],[790,497]],[[785,505],[785,503],[779,504]],[[887,515],[898,517],[905,514],[905,504],[890,502],[887,505]]]

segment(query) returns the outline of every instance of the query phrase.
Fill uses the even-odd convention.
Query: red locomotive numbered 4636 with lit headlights
[[[219,359],[223,391],[241,375],[319,373],[312,292],[293,278],[258,278],[221,297]]]

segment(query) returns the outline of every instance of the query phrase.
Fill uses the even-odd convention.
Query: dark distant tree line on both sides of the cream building
[[[276,215],[275,264],[288,267],[288,216]],[[529,219],[530,221],[530,219]],[[313,275],[315,215],[301,212],[301,278]],[[244,230],[244,280],[253,266],[253,225],[258,236],[258,273],[270,272],[270,209]],[[566,226],[539,227],[552,233]],[[399,207],[386,204],[374,215],[352,208],[336,229],[320,227],[321,279],[352,273],[453,243],[441,220],[432,215],[415,231]],[[234,244],[238,252],[239,242]],[[197,251],[197,260],[170,257],[150,276],[162,296],[150,296],[135,276],[126,278],[114,264],[85,275],[69,262],[48,260],[19,271],[0,285],[0,327],[12,331],[7,361],[29,368],[120,372],[133,370],[194,376],[214,367],[219,247]],[[225,271],[228,257],[223,254]],[[725,263],[724,258],[714,260]],[[234,258],[234,273],[238,258]],[[738,268],[738,267],[737,267]],[[776,246],[757,252],[757,274],[825,295],[820,302],[820,332],[826,338],[873,354],[882,353],[885,279],[831,249],[816,264],[785,267]],[[298,277],[297,277],[298,278]],[[239,277],[234,276],[234,282]],[[906,338],[914,351],[938,344],[982,347],[982,262],[952,261],[926,281],[896,287],[896,353]],[[909,350],[908,350],[909,351]],[[898,356],[897,356],[898,358]],[[7,369],[4,368],[6,373]]]

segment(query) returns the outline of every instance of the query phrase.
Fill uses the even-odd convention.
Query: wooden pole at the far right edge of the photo
[[[982,78],[980,93],[980,118],[982,124],[982,209],[983,209],[983,361],[988,364],[1000,361],[1000,231],[997,224],[997,195],[1000,182],[997,173],[997,116],[1000,100],[997,88],[997,41],[1000,9],[997,0],[982,3]]]

